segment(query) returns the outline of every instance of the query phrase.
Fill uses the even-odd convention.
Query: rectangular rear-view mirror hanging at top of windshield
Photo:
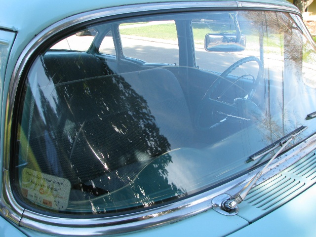
[[[207,34],[204,48],[207,52],[240,52],[245,50],[245,35]]]

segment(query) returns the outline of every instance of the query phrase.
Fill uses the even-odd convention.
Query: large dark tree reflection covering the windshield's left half
[[[77,64],[84,70],[82,63]],[[136,198],[137,205],[148,206],[153,200],[186,193],[168,184],[165,167],[172,162],[169,155],[156,158],[159,162],[146,169],[150,173],[143,178],[137,176],[155,159],[151,157],[169,151],[170,144],[160,134],[147,101],[123,77],[108,71],[111,75],[84,79],[78,72],[58,72],[61,64],[45,65],[42,60],[42,65],[45,75],[38,73],[37,77],[41,83],[34,88],[33,81],[26,83],[22,119],[40,172],[69,179],[75,189],[81,190],[71,196],[75,200],[92,200],[101,194],[99,191],[108,190],[105,182],[98,186],[100,189],[94,188],[92,180],[110,173],[120,180],[117,189],[130,190],[123,199],[128,200],[131,195],[130,200]],[[40,86],[45,83],[54,86],[54,91]],[[106,197],[111,199],[110,205],[119,205],[121,201],[116,196],[118,192],[114,192],[117,189],[110,190]],[[165,190],[169,192],[165,197],[154,197]]]

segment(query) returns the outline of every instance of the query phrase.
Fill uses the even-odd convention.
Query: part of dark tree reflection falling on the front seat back
[[[56,78],[56,71],[46,68],[46,74],[60,83],[55,86],[57,107],[62,108],[58,120],[64,121],[65,128],[62,139],[53,135],[56,145],[66,150],[82,181],[170,149],[146,100],[121,76],[77,77],[75,81],[76,76],[67,72],[67,77]],[[65,81],[70,78],[74,81]],[[56,127],[49,125],[54,114],[48,112],[44,117],[47,126]],[[93,169],[92,174],[87,168]]]

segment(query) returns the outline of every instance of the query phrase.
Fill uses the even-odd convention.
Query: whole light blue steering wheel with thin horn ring
[[[233,72],[235,69],[237,69],[239,66],[241,66],[244,63],[254,61],[258,64],[258,75],[256,78],[254,78],[250,74],[242,75],[241,77],[238,77],[236,80],[232,81],[230,79],[227,79],[228,75]],[[220,101],[220,98],[228,91],[228,89],[235,85],[240,90],[244,90],[240,86],[238,86],[236,83],[242,78],[252,78],[252,86],[251,91],[246,92],[247,95],[244,98],[235,98],[234,103],[227,103]],[[255,93],[256,86],[258,85],[259,81],[263,78],[263,65],[259,58],[255,56],[249,56],[242,58],[238,60],[236,63],[232,64],[230,67],[228,67],[214,82],[213,84],[208,88],[206,93],[204,94],[202,100],[197,106],[197,112],[195,115],[195,126],[197,130],[208,130],[215,126],[218,126],[220,123],[230,120],[230,119],[237,119],[237,120],[250,120],[248,118],[244,118],[243,116],[236,115],[236,113],[239,111],[238,107],[240,106],[241,100],[246,100],[244,103],[242,103],[244,106],[250,105],[250,107],[253,107],[253,102],[251,102],[251,99]],[[226,83],[227,85],[223,85]],[[224,87],[224,89],[222,89]],[[219,90],[220,88],[220,90]],[[214,98],[215,95],[215,98]],[[211,98],[213,97],[213,98]],[[237,103],[238,101],[238,103]],[[250,103],[251,102],[251,103]],[[211,103],[211,111],[207,111],[209,113],[209,121],[207,125],[200,125],[201,123],[201,117],[202,112],[204,111],[204,108],[207,104]],[[246,113],[248,114],[248,113]]]

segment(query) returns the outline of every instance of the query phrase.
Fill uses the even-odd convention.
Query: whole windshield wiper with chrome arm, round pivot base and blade
[[[263,156],[271,151],[274,151],[277,147],[281,147],[263,167],[263,169],[261,169],[237,194],[233,196],[230,196],[229,194],[221,194],[217,197],[214,197],[212,199],[213,209],[227,216],[236,215],[239,210],[237,204],[245,199],[250,189],[254,186],[271,162],[284,150],[284,148],[295,138],[295,136],[300,134],[306,128],[307,126],[301,126],[271,145],[267,146],[266,148],[260,150],[258,153],[254,154],[256,156]]]

